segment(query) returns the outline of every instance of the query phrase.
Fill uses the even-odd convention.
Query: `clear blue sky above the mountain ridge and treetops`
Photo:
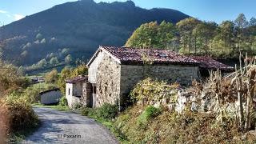
[[[64,2],[77,0],[0,0],[0,26],[14,22],[26,15],[46,10]],[[114,2],[115,0],[94,0],[95,2]],[[125,2],[126,0],[118,0]],[[256,0],[134,0],[136,6],[150,9],[164,7],[180,10],[194,18],[222,22],[234,20],[238,14],[246,18],[256,17]]]

